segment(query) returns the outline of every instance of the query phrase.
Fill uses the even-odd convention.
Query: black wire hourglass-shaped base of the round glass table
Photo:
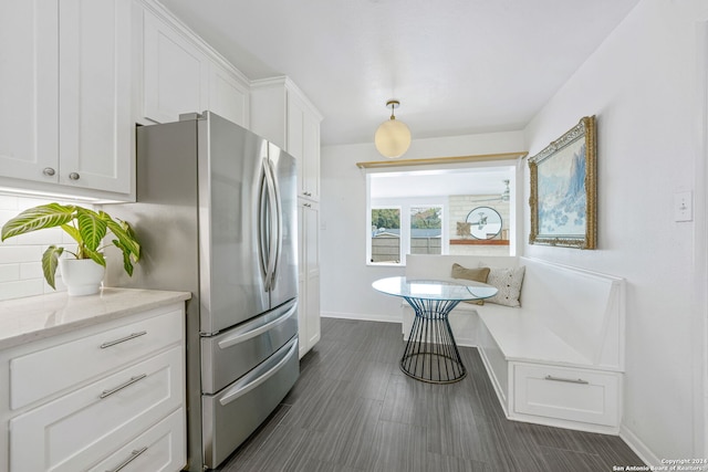
[[[400,370],[430,384],[452,384],[467,375],[448,314],[459,301],[404,297],[415,311]]]

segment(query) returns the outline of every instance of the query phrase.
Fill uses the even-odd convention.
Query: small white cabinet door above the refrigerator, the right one
[[[211,64],[209,109],[237,125],[248,128],[249,92],[229,71]]]

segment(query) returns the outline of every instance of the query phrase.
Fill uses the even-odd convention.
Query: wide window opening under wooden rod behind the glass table
[[[406,254],[510,255],[518,166],[367,171],[366,263],[405,265]],[[480,240],[472,210],[492,208],[502,225]]]

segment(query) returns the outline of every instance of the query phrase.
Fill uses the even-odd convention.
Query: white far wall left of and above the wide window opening
[[[376,124],[372,124],[373,129]],[[413,130],[415,135],[415,130]],[[518,153],[523,134],[414,139],[405,158]],[[384,159],[371,144],[322,147],[321,310],[324,316],[400,321],[400,300],[374,292],[376,279],[403,268],[366,265],[366,178],[356,162]]]

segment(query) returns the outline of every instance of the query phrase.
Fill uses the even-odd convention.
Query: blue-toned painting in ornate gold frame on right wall
[[[597,159],[595,117],[586,116],[529,159],[530,244],[595,249]]]

